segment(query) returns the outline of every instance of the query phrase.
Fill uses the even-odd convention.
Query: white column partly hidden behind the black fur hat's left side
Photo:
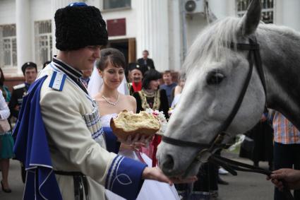
[[[20,0],[21,1],[21,0]],[[27,0],[28,1],[28,0]],[[52,0],[51,1],[51,11],[52,11],[52,55],[56,55],[58,50],[55,47],[56,44],[56,37],[55,37],[55,12],[59,8],[64,8],[68,6],[68,4],[74,3],[74,2],[79,2],[80,0],[74,1],[74,0]]]

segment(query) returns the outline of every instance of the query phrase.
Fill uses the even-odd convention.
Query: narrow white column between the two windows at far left
[[[16,38],[18,74],[23,74],[21,66],[33,59],[29,0],[16,0]]]

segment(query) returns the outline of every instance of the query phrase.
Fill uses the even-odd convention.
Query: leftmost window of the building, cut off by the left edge
[[[17,66],[16,24],[0,25],[0,66]]]

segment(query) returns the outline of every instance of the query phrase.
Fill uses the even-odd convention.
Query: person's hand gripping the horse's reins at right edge
[[[271,182],[281,191],[284,186],[280,180],[287,182],[287,187],[289,189],[300,189],[300,170],[287,168],[276,170],[272,172],[270,177],[267,177],[267,180],[271,180]]]

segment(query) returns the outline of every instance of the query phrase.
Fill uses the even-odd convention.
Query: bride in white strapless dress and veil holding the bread
[[[104,131],[111,131],[109,122],[112,117],[122,110],[136,112],[136,99],[128,95],[128,88],[124,77],[126,61],[124,55],[117,49],[102,49],[100,60],[97,61],[97,69],[92,72],[88,85],[90,95],[95,98],[102,121]],[[140,162],[152,165],[152,160],[147,155],[140,153],[139,149],[145,143],[136,143],[128,146],[121,143],[119,154]],[[123,199],[107,190],[109,200]],[[137,199],[179,199],[174,185],[145,180]]]

